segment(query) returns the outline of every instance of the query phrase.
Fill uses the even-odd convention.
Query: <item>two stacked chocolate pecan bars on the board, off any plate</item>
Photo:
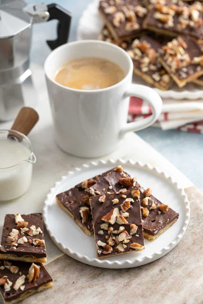
[[[17,303],[52,287],[53,280],[42,264],[46,262],[42,214],[6,214],[0,245],[3,303]]]

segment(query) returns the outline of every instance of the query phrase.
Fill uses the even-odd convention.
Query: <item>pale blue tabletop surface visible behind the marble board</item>
[[[33,0],[27,3],[40,3]],[[84,9],[92,0],[58,0],[57,3],[72,13],[72,23],[69,41],[76,40],[78,21]],[[50,2],[45,0],[44,3]],[[45,40],[55,39],[56,22],[35,24],[33,26],[33,41],[31,60],[44,64],[50,53]],[[203,192],[203,134],[187,133],[177,130],[162,131],[157,128],[147,128],[137,132],[144,140],[165,156],[172,164],[182,171]]]

